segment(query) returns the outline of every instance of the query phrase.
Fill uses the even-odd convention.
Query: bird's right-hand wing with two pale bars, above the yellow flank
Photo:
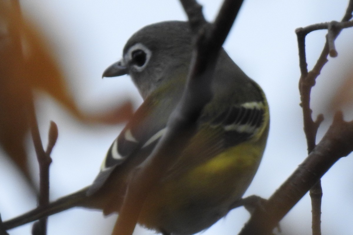
[[[219,112],[216,117],[201,118],[197,134],[170,168],[166,179],[182,175],[227,148],[249,140],[264,121],[263,109],[262,101],[248,102],[232,105]]]

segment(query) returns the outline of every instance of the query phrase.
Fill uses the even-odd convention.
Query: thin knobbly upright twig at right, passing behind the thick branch
[[[299,67],[301,72],[299,79],[300,105],[303,109],[304,132],[306,136],[308,153],[310,153],[315,147],[317,130],[323,121],[323,115],[319,115],[316,121],[313,121],[312,119],[312,110],[310,108],[311,88],[315,85],[317,76],[320,74],[321,69],[328,61],[327,56],[330,55],[331,57],[336,57],[338,55],[335,47],[335,39],[342,29],[353,26],[353,21],[348,21],[352,18],[352,11],[353,1],[351,0],[349,1],[345,16],[342,18],[341,22],[331,21],[329,23],[314,24],[295,30],[298,38]],[[305,55],[305,37],[308,33],[320,29],[328,30],[326,35],[326,43],[317,63],[312,71],[308,73]],[[317,183],[310,189],[310,198],[312,205],[313,235],[321,235],[322,187],[320,179],[318,179]]]

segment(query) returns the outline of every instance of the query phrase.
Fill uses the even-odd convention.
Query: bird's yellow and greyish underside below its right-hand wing
[[[193,234],[225,216],[243,196],[261,162],[269,130],[265,98],[263,109],[263,123],[257,132],[220,153],[216,153],[215,140],[221,129],[203,126],[180,159],[182,162],[174,166],[166,180],[151,189],[139,223],[175,234]],[[215,156],[207,155],[213,151]],[[205,157],[205,161],[198,164],[196,156]]]

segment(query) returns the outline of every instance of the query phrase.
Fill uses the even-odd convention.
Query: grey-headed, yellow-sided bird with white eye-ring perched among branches
[[[92,185],[4,222],[10,229],[74,206],[118,212],[131,172],[151,154],[183,94],[195,35],[186,21],[163,21],[134,33],[103,77],[129,75],[143,98],[113,141]],[[191,235],[227,215],[249,187],[266,146],[269,107],[261,87],[227,52],[219,52],[212,98],[192,137],[152,187],[138,223],[163,235]],[[166,156],[168,157],[168,156]]]

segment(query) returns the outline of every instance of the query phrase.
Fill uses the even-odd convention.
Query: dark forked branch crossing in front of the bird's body
[[[163,135],[151,155],[132,174],[113,234],[132,234],[147,192],[163,178],[166,169],[168,169],[166,166],[173,164],[173,160],[177,159],[173,156],[180,153],[187,140],[192,136],[196,127],[196,119],[212,96],[210,81],[213,77],[218,52],[239,10],[239,7],[238,10],[237,8],[228,9],[237,5],[234,2],[226,0],[223,3],[215,23],[209,28],[204,27],[204,18],[201,17],[198,10],[185,9],[189,19],[192,19],[191,27],[201,29],[196,35],[198,37],[197,45],[185,92],[176,110],[169,117],[166,134]],[[185,3],[186,1],[182,1],[184,7],[195,6],[195,9],[199,9],[196,5],[186,5]],[[192,3],[196,2],[192,1]],[[191,15],[192,12],[197,13],[195,18]],[[199,19],[197,19],[198,17]],[[226,23],[228,20],[229,23]],[[195,25],[194,22],[199,22],[200,25]],[[219,23],[223,23],[221,28],[218,27]]]

